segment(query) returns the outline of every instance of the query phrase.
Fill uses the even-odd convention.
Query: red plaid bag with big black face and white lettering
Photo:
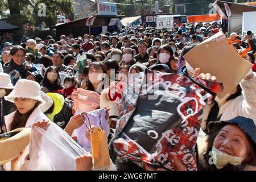
[[[131,88],[123,92],[122,117],[118,120],[117,133],[110,147],[113,147],[119,157],[141,163],[144,167],[175,170],[172,159],[176,156],[188,170],[197,170],[196,140],[203,108],[209,104],[213,96],[186,76],[154,71],[147,71],[147,77],[142,73],[140,76],[141,81],[134,85],[137,89],[141,87],[139,93],[128,94]],[[168,105],[162,108],[159,100],[151,100],[150,102],[155,103],[148,106],[147,103],[150,102],[147,102],[147,97],[152,92],[150,88],[146,89],[146,92],[143,91],[142,88],[148,86],[144,80],[151,80],[151,87],[158,85],[159,88],[164,89],[159,92],[162,94],[160,101],[162,98],[170,100],[168,102],[170,107]],[[218,83],[199,78],[193,78],[193,80],[214,93],[221,89]],[[129,80],[129,84],[133,84],[133,81]],[[154,112],[161,113],[162,111],[165,111],[163,115],[170,114],[170,118],[164,118],[166,120],[161,121],[159,126],[157,122],[164,116],[158,114],[154,118]],[[143,112],[146,114],[143,115]],[[151,118],[147,112],[152,113]],[[148,131],[144,128],[148,128]],[[146,137],[148,139],[143,140]]]

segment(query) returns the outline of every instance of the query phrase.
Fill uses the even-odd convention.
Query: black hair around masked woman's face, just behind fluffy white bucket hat
[[[58,74],[58,78],[57,78],[57,80],[55,80],[54,83],[50,82],[48,80],[48,78],[47,78],[47,74],[50,71],[52,71],[52,69],[54,69],[56,71],[56,73]],[[60,83],[60,75],[59,75],[59,72],[58,72],[56,67],[51,66],[51,67],[48,67],[46,69],[46,72],[44,73],[44,78],[43,78],[43,81],[42,81],[42,85],[45,86],[47,89],[50,88],[49,90],[60,90],[60,89],[63,89],[63,86]]]

